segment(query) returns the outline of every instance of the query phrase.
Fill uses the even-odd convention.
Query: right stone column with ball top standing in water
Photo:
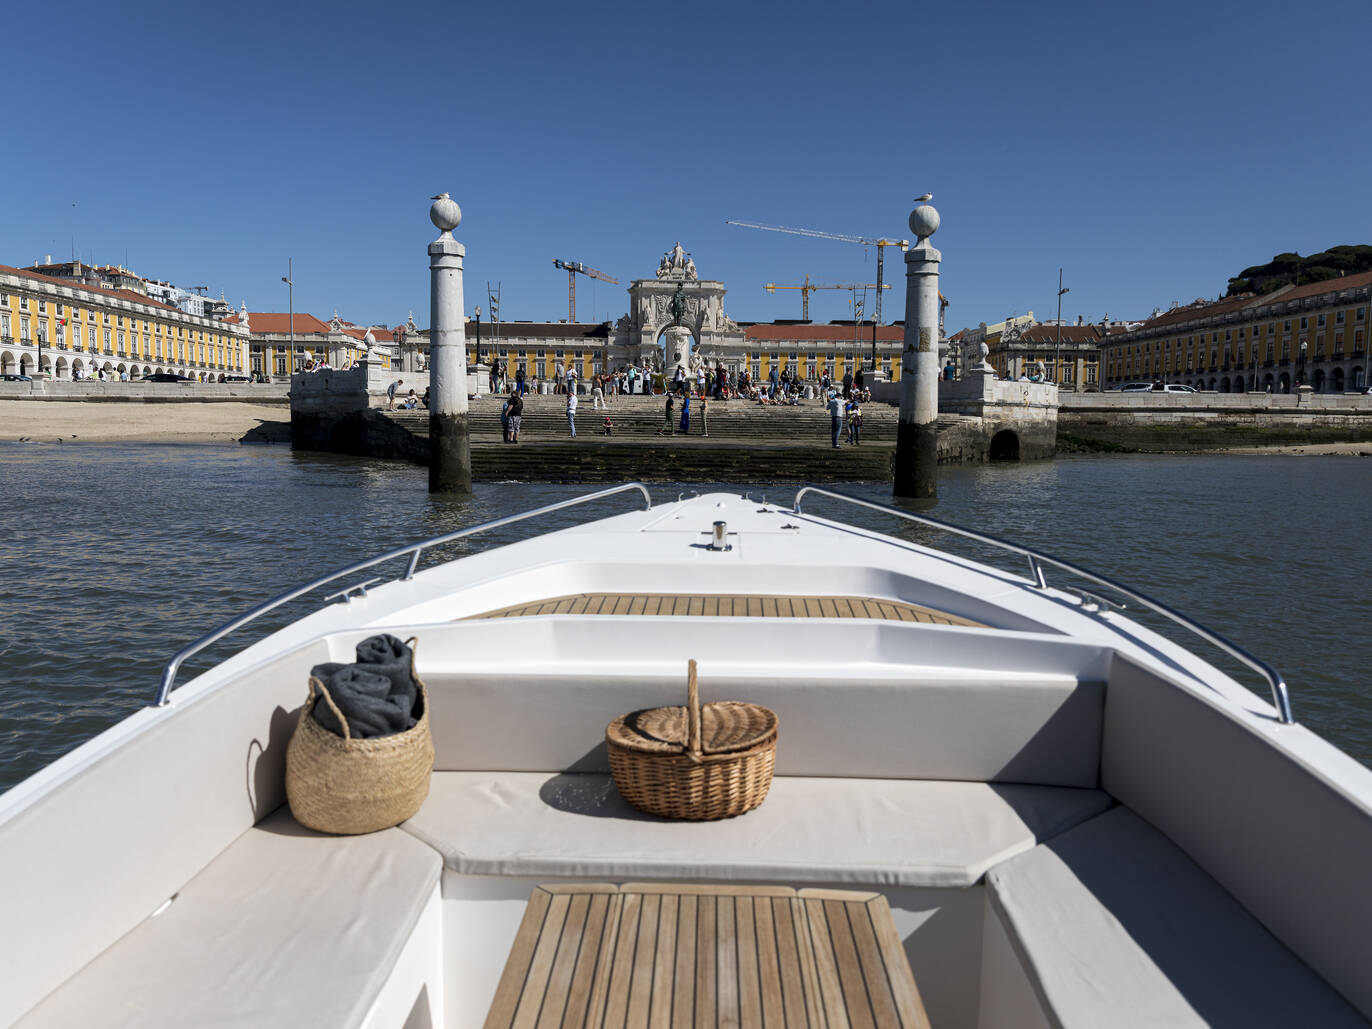
[[[896,428],[897,497],[938,493],[938,263],[929,244],[938,211],[910,214],[915,246],[906,254],[906,346],[900,358],[900,421]]]

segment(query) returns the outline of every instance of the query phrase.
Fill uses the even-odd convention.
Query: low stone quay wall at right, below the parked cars
[[[1372,439],[1362,394],[1063,392],[1063,450],[1213,450]]]

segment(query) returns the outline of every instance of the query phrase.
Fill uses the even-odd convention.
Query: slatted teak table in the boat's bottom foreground
[[[927,1029],[929,1017],[879,893],[568,884],[530,896],[486,1026]]]

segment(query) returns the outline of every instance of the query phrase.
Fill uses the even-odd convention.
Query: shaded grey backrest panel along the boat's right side
[[[1247,718],[1115,656],[1100,786],[1372,1018],[1372,811],[1327,774],[1369,782],[1372,772],[1301,726],[1277,729],[1292,748],[1317,755],[1321,774]]]

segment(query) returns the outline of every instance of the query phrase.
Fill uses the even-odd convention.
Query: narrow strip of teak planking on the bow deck
[[[781,597],[766,594],[674,594],[674,593],[576,593],[567,597],[497,608],[472,619],[530,617],[535,615],[646,615],[668,617],[761,617],[761,619],[877,619],[879,622],[922,622],[930,626],[982,623],[904,601],[870,597]]]

